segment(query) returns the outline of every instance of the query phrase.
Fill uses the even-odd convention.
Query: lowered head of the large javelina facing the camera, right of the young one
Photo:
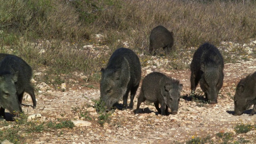
[[[219,66],[201,65],[203,72],[200,79],[200,87],[205,93],[206,98],[210,100],[210,104],[217,103],[218,92],[223,85],[223,72]]]

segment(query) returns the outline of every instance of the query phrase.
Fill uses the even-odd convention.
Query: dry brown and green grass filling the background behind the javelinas
[[[147,55],[152,28],[163,25],[174,32],[174,47],[165,69],[188,68],[200,44],[249,43],[256,38],[254,0],[0,0],[0,48],[2,53],[22,57],[34,70],[45,70],[37,81],[61,84],[62,74],[83,72],[88,82],[100,80],[100,68],[123,42],[140,55]],[[95,35],[101,34],[97,38]],[[92,44],[101,53],[83,48]],[[243,46],[237,57],[222,51],[224,62],[248,56]],[[160,58],[163,56],[159,52]],[[256,58],[254,50],[251,57]],[[54,79],[54,82],[51,81]],[[1,134],[1,133],[0,133]],[[14,140],[15,142],[15,140]],[[16,142],[18,143],[18,142]]]

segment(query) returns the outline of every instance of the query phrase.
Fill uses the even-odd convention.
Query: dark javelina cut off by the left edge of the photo
[[[22,112],[21,103],[24,92],[32,97],[33,108],[36,108],[34,88],[30,84],[32,69],[22,58],[0,54],[4,57],[0,62],[0,116],[4,116],[5,108],[11,113]]]

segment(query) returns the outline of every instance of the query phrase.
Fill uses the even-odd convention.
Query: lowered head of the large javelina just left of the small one
[[[121,69],[105,70],[102,68],[101,72],[100,99],[105,102],[107,109],[110,109],[124,95],[120,87]]]

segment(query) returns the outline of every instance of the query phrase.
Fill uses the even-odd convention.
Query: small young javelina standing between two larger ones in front
[[[168,107],[172,110],[173,114],[176,114],[181,90],[182,84],[178,80],[169,78],[160,72],[148,74],[142,82],[135,114],[139,112],[140,104],[145,100],[154,102],[158,113],[163,116],[168,114]],[[161,109],[159,108],[159,103]]]

